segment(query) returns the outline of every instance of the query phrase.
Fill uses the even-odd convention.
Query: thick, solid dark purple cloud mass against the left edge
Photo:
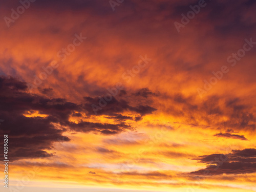
[[[51,157],[53,154],[44,150],[52,148],[53,142],[70,140],[62,136],[66,129],[55,129],[53,123],[67,121],[73,110],[79,111],[78,105],[28,94],[26,83],[12,77],[0,77],[0,89],[0,115],[5,119],[0,132],[8,134],[11,161]],[[39,111],[47,117],[24,116],[28,111]]]

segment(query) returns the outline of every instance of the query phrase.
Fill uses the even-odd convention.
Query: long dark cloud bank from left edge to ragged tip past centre
[[[70,141],[62,135],[67,130],[103,135],[133,130],[133,127],[125,122],[133,120],[133,117],[124,116],[122,112],[131,111],[143,116],[156,110],[148,105],[131,106],[123,99],[118,101],[113,98],[109,106],[102,110],[102,115],[115,119],[116,124],[95,123],[86,121],[86,118],[74,123],[69,121],[70,116],[82,118],[82,113],[95,114],[88,114],[88,111],[84,110],[86,104],[80,105],[62,98],[50,99],[30,94],[25,82],[12,77],[0,77],[0,89],[0,117],[4,119],[1,122],[0,133],[9,136],[9,154],[12,161],[53,156],[54,154],[49,154],[46,150],[52,149],[53,142]],[[40,88],[38,90],[41,93],[53,91]],[[95,101],[91,97],[87,97],[86,100]],[[91,108],[91,105],[89,106]],[[31,114],[39,115],[29,116]],[[56,127],[55,124],[59,126]]]

